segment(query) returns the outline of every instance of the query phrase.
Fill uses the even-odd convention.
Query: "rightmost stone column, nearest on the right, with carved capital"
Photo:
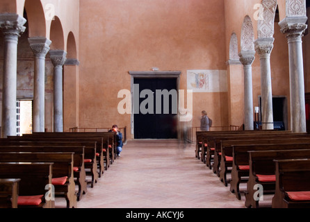
[[[282,33],[288,39],[290,66],[291,130],[307,132],[304,101],[304,64],[302,58],[302,35],[307,28],[307,17],[286,17],[279,22]]]

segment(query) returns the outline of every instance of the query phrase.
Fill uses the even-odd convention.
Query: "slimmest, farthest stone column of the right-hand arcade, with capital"
[[[244,89],[245,89],[245,130],[254,130],[253,121],[253,89],[252,89],[252,63],[255,59],[255,51],[241,51],[240,62],[243,65]]]

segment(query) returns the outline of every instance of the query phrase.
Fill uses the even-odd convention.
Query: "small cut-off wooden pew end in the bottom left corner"
[[[0,208],[17,208],[19,178],[0,179]]]

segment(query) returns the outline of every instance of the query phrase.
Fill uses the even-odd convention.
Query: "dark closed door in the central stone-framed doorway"
[[[135,139],[177,139],[177,78],[133,78]]]

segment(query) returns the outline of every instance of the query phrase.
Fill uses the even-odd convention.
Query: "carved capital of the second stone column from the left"
[[[28,38],[28,42],[35,57],[44,58],[49,52],[51,40],[46,37],[30,37]]]

